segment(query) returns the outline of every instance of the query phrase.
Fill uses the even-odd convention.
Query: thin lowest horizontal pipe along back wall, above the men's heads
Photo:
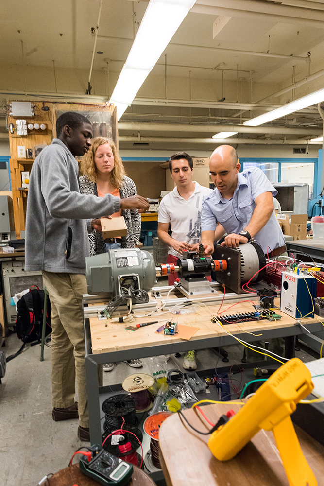
[[[211,143],[213,145],[220,145],[220,144],[255,144],[255,145],[322,145],[322,142],[311,142],[310,140],[307,139],[234,139],[233,137],[229,139],[190,139],[187,137],[142,137],[140,139],[141,143],[150,143],[150,142],[156,142],[156,143],[182,143],[182,144],[190,144],[190,143],[195,143],[195,144],[205,144],[205,143]],[[120,142],[137,142],[138,143],[138,137],[126,137],[126,136],[121,136],[119,137],[119,143]]]

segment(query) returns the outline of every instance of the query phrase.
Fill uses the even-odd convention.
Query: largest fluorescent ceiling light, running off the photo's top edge
[[[118,120],[129,106],[196,0],[150,0],[110,103]]]

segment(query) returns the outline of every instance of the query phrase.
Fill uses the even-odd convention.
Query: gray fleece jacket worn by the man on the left
[[[36,157],[30,174],[25,270],[84,274],[91,219],[119,209],[119,197],[80,194],[78,162],[54,139]]]

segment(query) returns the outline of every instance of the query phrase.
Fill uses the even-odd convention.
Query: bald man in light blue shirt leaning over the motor
[[[254,238],[265,254],[279,255],[286,247],[273,211],[277,191],[257,167],[241,173],[240,167],[236,150],[230,145],[217,147],[210,156],[209,172],[215,190],[205,197],[202,206],[205,254],[211,255],[214,241],[227,233],[223,246],[236,248]]]

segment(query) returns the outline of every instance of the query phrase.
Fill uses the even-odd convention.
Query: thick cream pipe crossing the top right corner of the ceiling
[[[190,12],[229,17],[256,18],[260,21],[298,23],[323,28],[324,12],[258,0],[197,0]],[[322,26],[322,27],[321,27]]]

